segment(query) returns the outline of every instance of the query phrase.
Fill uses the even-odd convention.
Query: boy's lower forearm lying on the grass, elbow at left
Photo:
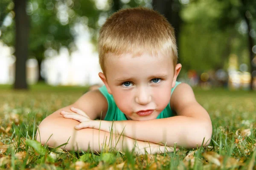
[[[44,126],[41,124],[39,125],[37,131],[37,140],[39,142],[41,142],[42,144],[47,143],[51,147],[58,147],[61,144],[68,143],[61,148],[76,151],[78,151],[79,149],[84,151],[90,149],[93,151],[101,152],[102,150],[109,149],[111,147],[119,151],[125,149],[131,151],[135,149],[134,151],[140,154],[144,154],[145,150],[148,153],[164,153],[167,150],[173,151],[173,148],[165,148],[164,146],[160,146],[159,144],[134,140],[126,136],[109,133],[102,130],[96,130],[92,128],[75,130],[73,126],[75,126],[79,122],[71,119],[59,119],[60,121],[55,120],[55,124],[52,124],[53,122],[51,120],[46,120],[45,122],[43,122],[43,124],[45,125],[45,123],[47,123],[49,124],[48,126]],[[64,125],[62,122],[63,120],[64,122],[69,124]],[[52,126],[54,126],[55,128],[52,128]]]

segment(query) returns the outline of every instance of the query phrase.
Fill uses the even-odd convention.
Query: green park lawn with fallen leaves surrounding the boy
[[[256,92],[195,88],[196,99],[212,119],[209,146],[138,156],[114,149],[97,154],[42,147],[33,141],[39,123],[88,88],[10,88],[0,85],[0,169],[256,169]]]

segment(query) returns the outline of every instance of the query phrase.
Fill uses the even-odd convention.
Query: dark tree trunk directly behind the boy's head
[[[178,0],[153,0],[153,8],[154,10],[163,14],[169,23],[175,28],[175,37],[178,50],[179,45],[179,33],[180,33],[180,3]]]

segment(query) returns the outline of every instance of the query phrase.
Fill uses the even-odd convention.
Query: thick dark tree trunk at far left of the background
[[[14,0],[15,10],[15,89],[28,89],[26,82],[26,60],[28,58],[29,17],[26,0]]]

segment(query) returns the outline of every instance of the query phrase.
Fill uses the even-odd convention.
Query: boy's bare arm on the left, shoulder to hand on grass
[[[103,105],[102,105],[103,104]],[[51,115],[47,116],[39,125],[36,139],[42,144],[48,144],[51,147],[62,146],[67,150],[93,150],[100,152],[104,149],[114,147],[116,150],[125,149],[132,150],[134,145],[135,152],[144,154],[148,153],[164,153],[173,151],[171,147],[164,147],[151,142],[144,142],[131,139],[126,136],[109,133],[93,128],[84,128],[75,130],[75,126],[80,122],[73,119],[65,119],[60,113],[61,111],[70,111],[71,107],[80,108],[90,119],[94,120],[100,117],[102,113],[105,116],[107,107],[105,97],[98,91],[90,91],[81,96],[74,104],[61,108]],[[103,107],[102,107],[103,106]],[[111,139],[111,140],[110,140]],[[118,142],[117,142],[118,141]]]

